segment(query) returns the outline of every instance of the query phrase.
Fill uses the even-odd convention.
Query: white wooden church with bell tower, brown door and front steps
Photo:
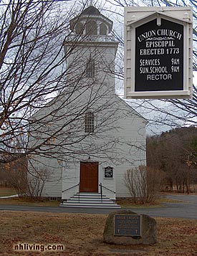
[[[118,207],[116,198],[130,196],[125,172],[145,165],[147,121],[115,94],[118,42],[112,35],[112,21],[90,5],[69,25],[70,34],[64,41],[69,70],[65,85],[73,81],[75,92],[65,101],[65,86],[53,104],[33,117],[47,116],[46,111],[55,106],[59,109],[56,115],[69,113],[65,118],[72,122],[58,138],[66,146],[58,148],[57,143],[63,161],[57,161],[57,152],[54,158],[38,154],[31,165],[47,168],[42,196],[62,199],[62,207]],[[59,118],[56,128],[62,121]],[[34,143],[34,138],[29,141]]]

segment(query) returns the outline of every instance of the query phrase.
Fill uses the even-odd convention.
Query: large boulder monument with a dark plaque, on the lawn
[[[145,214],[130,210],[112,212],[107,217],[104,242],[115,245],[151,245],[157,242],[157,223]]]

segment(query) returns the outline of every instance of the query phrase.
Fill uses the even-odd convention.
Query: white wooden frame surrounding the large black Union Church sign
[[[192,7],[125,7],[125,98],[192,98]],[[135,91],[135,29],[153,19],[183,25],[183,90]]]

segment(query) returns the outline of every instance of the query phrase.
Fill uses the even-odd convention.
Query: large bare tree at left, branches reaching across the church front
[[[80,13],[85,4],[80,8],[69,1],[65,4],[57,1],[1,2],[2,163],[24,155],[34,158],[38,154],[48,158],[56,156],[62,161],[63,149],[68,146],[72,146],[69,154],[80,153],[75,143],[82,143],[90,135],[80,135],[84,129],[81,120],[88,109],[109,93],[107,85],[102,84],[105,77],[99,86],[95,79],[81,82],[87,76],[87,66],[82,61],[82,54],[87,57],[87,52],[78,49],[75,60],[66,64],[65,60],[85,40],[81,35],[71,37],[69,30],[69,20]],[[64,50],[67,42],[71,43]],[[91,51],[88,54],[91,55]],[[100,63],[95,65],[99,70]],[[84,104],[80,98],[87,95]],[[98,105],[95,115],[106,108],[109,113],[97,122],[97,138],[109,127],[115,111],[107,99]],[[108,150],[113,144],[114,141],[107,146]],[[90,145],[84,144],[82,151],[87,148]],[[91,153],[96,151],[104,151],[103,145],[94,148],[92,143]]]

